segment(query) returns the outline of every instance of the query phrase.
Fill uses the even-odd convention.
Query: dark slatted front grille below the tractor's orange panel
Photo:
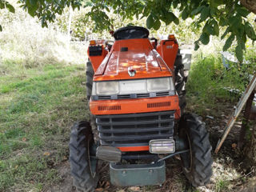
[[[173,136],[174,111],[97,115],[96,123],[102,145],[143,146]]]

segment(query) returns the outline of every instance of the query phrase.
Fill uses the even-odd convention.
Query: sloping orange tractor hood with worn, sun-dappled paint
[[[130,70],[135,70],[134,76],[130,75]],[[94,74],[94,81],[165,76],[171,76],[170,69],[150,41],[132,39],[118,41],[118,45],[114,45]]]

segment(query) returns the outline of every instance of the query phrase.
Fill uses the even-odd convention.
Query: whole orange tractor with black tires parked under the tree
[[[204,186],[212,174],[205,123],[186,106],[186,77],[174,35],[158,42],[140,26],[114,32],[114,43],[90,41],[86,66],[90,122],[70,134],[78,191],[94,191],[98,161],[110,162],[116,186],[161,185],[167,158],[179,155],[186,178]]]

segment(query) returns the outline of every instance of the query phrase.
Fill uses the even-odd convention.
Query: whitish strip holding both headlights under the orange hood
[[[162,91],[174,92],[172,77],[94,82],[92,95],[147,94]]]

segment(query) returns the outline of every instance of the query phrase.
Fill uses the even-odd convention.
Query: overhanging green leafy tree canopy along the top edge
[[[250,0],[91,0],[83,2],[86,2],[83,5],[91,6],[89,15],[95,22],[95,30],[113,30],[114,21],[108,17],[108,13],[118,14],[123,19],[132,19],[134,16],[137,19],[146,17],[146,26],[154,30],[158,30],[162,22],[166,25],[171,22],[178,25],[179,19],[192,18],[199,27],[202,27],[200,38],[194,42],[195,50],[198,50],[201,43],[207,45],[210,35],[221,35],[221,38],[226,38],[223,50],[230,48],[232,42],[237,42],[235,54],[241,62],[247,38],[256,40],[252,23],[247,19],[250,12],[256,13],[256,2]],[[18,0],[18,3],[31,16],[37,16],[42,26],[47,26],[47,22],[53,22],[55,14],[62,14],[66,6],[72,6],[73,9],[82,6],[82,1],[79,0]],[[0,0],[0,8],[6,8],[12,13],[15,11],[6,0]],[[226,29],[223,34],[220,34],[221,28]],[[1,26],[0,30],[2,30]]]

